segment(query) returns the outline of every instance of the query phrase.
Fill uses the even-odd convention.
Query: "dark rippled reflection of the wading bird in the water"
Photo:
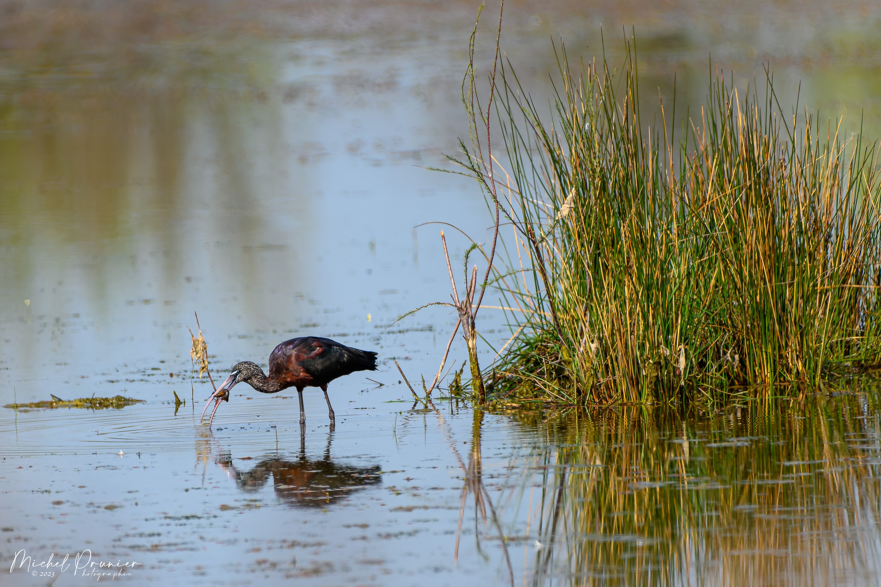
[[[272,477],[276,495],[293,508],[325,508],[344,500],[349,495],[382,482],[380,466],[349,466],[330,458],[333,431],[328,433],[328,444],[322,459],[308,459],[306,437],[300,436],[300,455],[293,460],[268,457],[248,471],[240,471],[233,464],[228,451],[217,460],[219,466],[235,480],[243,491],[253,493],[263,488]]]

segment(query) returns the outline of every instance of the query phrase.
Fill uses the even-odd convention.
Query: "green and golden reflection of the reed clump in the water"
[[[871,583],[881,561],[877,401],[855,393],[709,415],[644,407],[514,415],[550,447],[518,489],[530,503],[525,556],[534,557],[524,578]]]

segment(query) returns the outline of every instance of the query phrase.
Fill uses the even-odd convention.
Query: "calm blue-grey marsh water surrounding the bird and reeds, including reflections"
[[[137,561],[137,584],[877,584],[870,385],[713,414],[413,407],[391,361],[431,378],[454,325],[389,327],[448,295],[439,227],[413,227],[488,224],[418,167],[467,132],[475,6],[0,4],[0,405],[146,400],[0,411],[3,584],[95,580],[8,573],[22,548]],[[881,128],[877,8],[799,6],[514,4],[507,49],[544,84],[551,35],[634,25],[643,93],[675,70],[697,103],[707,53],[743,80],[769,58],[792,97]],[[194,311],[218,376],[321,334],[380,351],[382,385],[334,382],[333,430],[310,390],[302,437],[295,393],[240,386],[209,430]]]

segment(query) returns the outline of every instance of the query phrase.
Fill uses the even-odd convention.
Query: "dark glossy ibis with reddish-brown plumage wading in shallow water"
[[[372,350],[359,350],[346,347],[337,341],[319,336],[304,336],[282,342],[270,354],[270,375],[266,377],[256,363],[242,361],[233,365],[233,372],[217,391],[208,398],[202,410],[214,400],[211,422],[221,401],[229,401],[229,392],[236,384],[247,383],[262,393],[277,393],[288,387],[296,387],[300,395],[300,424],[306,423],[303,411],[303,388],[321,387],[324,399],[328,402],[330,422],[334,422],[333,407],[328,397],[328,384],[338,377],[354,371],[376,371],[376,353]]]

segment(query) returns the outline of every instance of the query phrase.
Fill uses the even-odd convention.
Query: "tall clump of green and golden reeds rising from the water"
[[[770,75],[766,99],[717,75],[674,136],[663,109],[640,121],[629,50],[619,72],[559,64],[548,115],[502,73],[507,180],[465,165],[514,227],[495,270],[522,328],[497,397],[769,394],[879,363],[874,143],[784,115]]]

